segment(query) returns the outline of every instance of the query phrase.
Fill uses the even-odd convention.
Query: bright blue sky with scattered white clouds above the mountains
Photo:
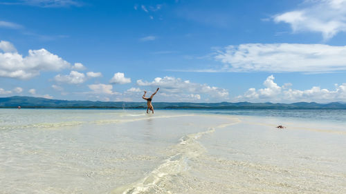
[[[0,97],[346,101],[346,0],[0,0]]]

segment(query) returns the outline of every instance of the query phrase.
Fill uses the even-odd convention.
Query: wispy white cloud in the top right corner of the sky
[[[291,25],[293,32],[320,32],[323,39],[346,32],[346,1],[315,0],[305,1],[306,8],[277,14],[275,22]]]

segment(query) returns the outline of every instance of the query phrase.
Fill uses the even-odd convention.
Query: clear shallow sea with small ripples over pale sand
[[[1,108],[0,193],[346,193],[346,110]]]

